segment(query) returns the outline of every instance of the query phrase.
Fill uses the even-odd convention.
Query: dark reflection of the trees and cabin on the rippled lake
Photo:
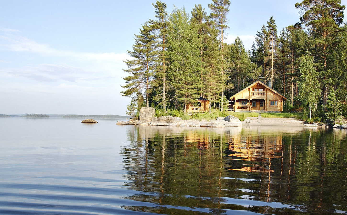
[[[134,126],[127,134],[125,186],[138,192],[126,198],[147,203],[127,207],[131,210],[282,214],[347,205],[345,133]],[[240,206],[232,199],[264,205]]]

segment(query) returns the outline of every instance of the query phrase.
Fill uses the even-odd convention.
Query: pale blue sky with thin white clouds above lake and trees
[[[152,2],[0,1],[0,114],[125,115],[122,60],[154,19]],[[190,14],[200,3],[209,14],[212,0],[165,2],[168,12],[175,5]],[[250,48],[271,16],[278,31],[295,24],[296,2],[231,0],[228,41],[239,36]]]

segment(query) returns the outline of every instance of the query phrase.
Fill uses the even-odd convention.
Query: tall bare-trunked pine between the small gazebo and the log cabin
[[[227,14],[229,12],[230,7],[230,1],[229,0],[212,0],[213,4],[208,4],[210,10],[211,10],[211,17],[214,19],[217,29],[220,30],[219,32],[219,38],[221,41],[221,75],[222,75],[222,96],[221,96],[221,111],[223,111],[223,97],[224,97],[224,84],[225,84],[225,77],[224,77],[224,67],[225,61],[224,61],[224,37],[225,37],[225,30],[229,28],[228,20],[227,20]]]

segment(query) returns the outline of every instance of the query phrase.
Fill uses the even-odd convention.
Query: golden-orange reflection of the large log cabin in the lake
[[[265,165],[243,164],[241,168],[232,169],[246,172],[273,172],[270,162],[280,158],[282,151],[282,136],[252,136],[235,135],[229,143],[232,160],[262,162]],[[266,165],[268,163],[269,165]]]

